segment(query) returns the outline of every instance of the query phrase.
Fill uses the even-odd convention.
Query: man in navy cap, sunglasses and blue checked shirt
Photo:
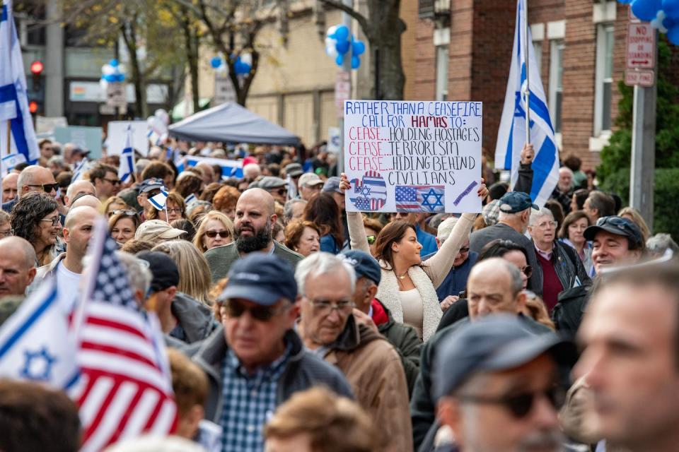
[[[231,266],[217,299],[222,326],[193,357],[209,379],[205,418],[223,429],[221,451],[262,451],[265,422],[297,391],[325,385],[352,397],[342,373],[292,329],[297,299],[292,267],[281,258],[255,253]]]

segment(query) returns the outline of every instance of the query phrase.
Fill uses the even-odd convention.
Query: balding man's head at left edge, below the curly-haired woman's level
[[[21,237],[0,239],[0,297],[25,295],[35,278],[35,249]]]

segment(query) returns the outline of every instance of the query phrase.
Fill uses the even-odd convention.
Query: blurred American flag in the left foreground
[[[80,407],[85,452],[142,432],[168,434],[177,417],[158,321],[134,299],[105,221],[95,227],[90,248],[76,326],[81,381],[71,391]]]

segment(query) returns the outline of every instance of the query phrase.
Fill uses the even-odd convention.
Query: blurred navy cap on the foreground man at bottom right
[[[518,316],[498,314],[465,323],[443,340],[436,354],[432,396],[438,400],[474,374],[515,369],[543,353],[564,367],[577,361],[574,343],[555,333],[531,333]]]

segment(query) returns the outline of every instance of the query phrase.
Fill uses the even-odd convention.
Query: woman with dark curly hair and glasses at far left
[[[28,240],[35,249],[37,266],[45,266],[64,251],[57,235],[62,230],[59,205],[52,196],[31,192],[21,197],[12,210],[14,235]]]

